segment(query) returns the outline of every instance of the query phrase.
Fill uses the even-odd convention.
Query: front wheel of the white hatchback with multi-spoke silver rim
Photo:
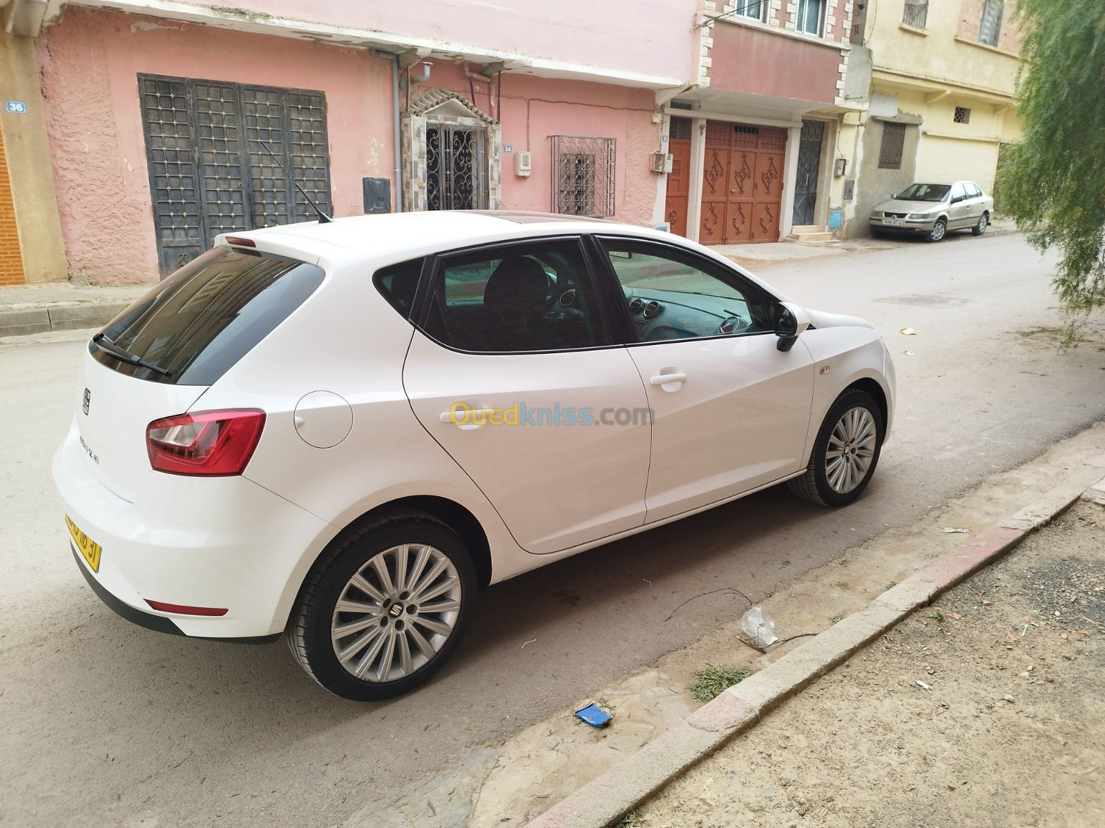
[[[845,391],[825,415],[806,474],[790,480],[790,490],[821,506],[852,502],[875,471],[883,437],[882,411],[871,394]]]

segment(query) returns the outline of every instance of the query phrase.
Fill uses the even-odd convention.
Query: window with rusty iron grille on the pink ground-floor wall
[[[614,214],[613,138],[554,135],[552,212],[568,215]]]

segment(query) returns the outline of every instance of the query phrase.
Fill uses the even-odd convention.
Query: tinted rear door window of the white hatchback
[[[558,351],[607,343],[577,238],[450,256],[438,268],[425,329],[465,351]]]

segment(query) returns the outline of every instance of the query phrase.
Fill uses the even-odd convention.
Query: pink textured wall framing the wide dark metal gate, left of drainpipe
[[[36,43],[61,227],[76,278],[158,278],[138,73],[325,92],[336,215],[362,211],[362,177],[392,176],[389,62],[365,50],[81,8],[70,8]]]

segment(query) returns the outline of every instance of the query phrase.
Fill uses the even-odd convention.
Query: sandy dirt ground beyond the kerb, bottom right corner
[[[624,822],[1105,825],[1105,507],[1076,505]]]

